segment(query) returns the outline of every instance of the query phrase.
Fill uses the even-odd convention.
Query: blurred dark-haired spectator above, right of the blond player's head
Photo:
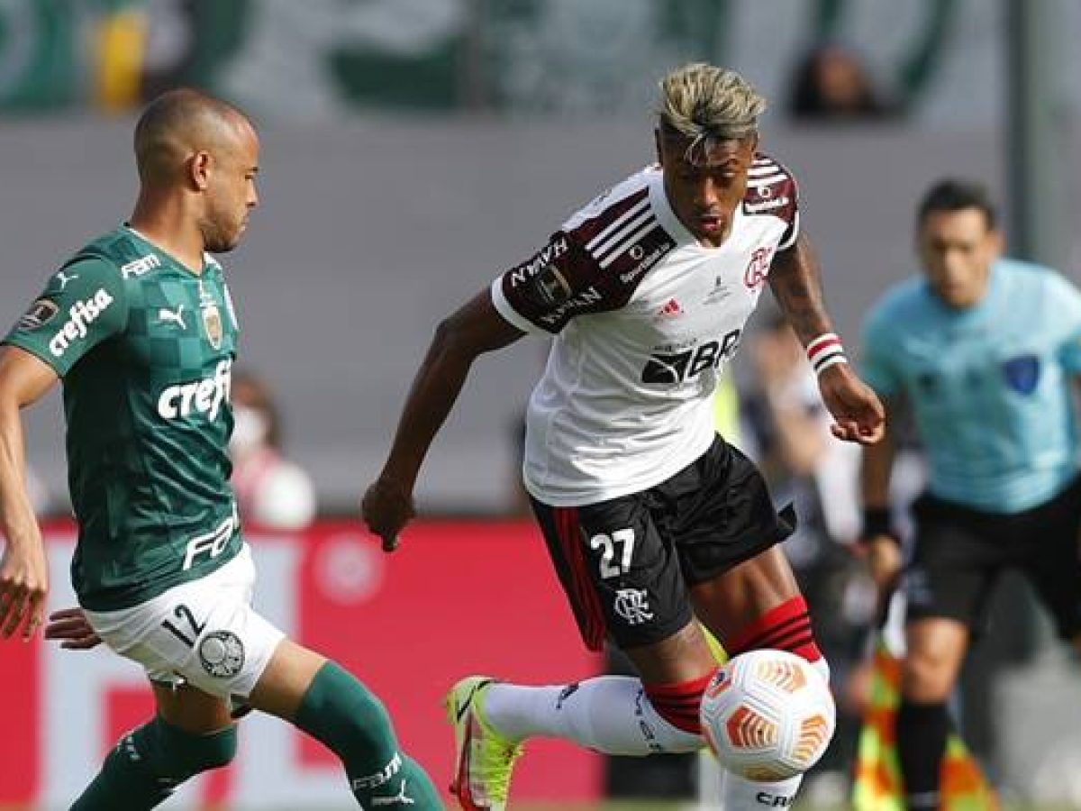
[[[859,55],[837,42],[816,45],[792,80],[789,115],[799,121],[856,121],[895,115]]]

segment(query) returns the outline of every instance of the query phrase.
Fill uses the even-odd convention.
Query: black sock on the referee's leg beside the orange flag
[[[902,700],[897,710],[897,755],[909,811],[939,807],[939,775],[946,755],[949,716],[946,704],[912,704]]]

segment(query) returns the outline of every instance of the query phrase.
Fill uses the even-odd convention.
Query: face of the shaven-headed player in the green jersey
[[[245,121],[223,138],[209,175],[201,228],[211,253],[225,253],[240,243],[248,217],[259,202],[258,171],[259,138]]]

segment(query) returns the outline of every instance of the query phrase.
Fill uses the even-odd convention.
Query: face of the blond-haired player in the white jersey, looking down
[[[702,244],[719,247],[732,231],[736,207],[747,192],[747,171],[755,160],[758,136],[695,148],[681,135],[657,132],[657,160],[665,194],[679,221]],[[704,154],[705,152],[705,154]]]

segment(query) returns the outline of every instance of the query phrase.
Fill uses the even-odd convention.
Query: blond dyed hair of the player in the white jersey
[[[735,70],[695,62],[660,80],[657,115],[663,133],[691,142],[690,155],[753,135],[765,107],[765,98]]]

